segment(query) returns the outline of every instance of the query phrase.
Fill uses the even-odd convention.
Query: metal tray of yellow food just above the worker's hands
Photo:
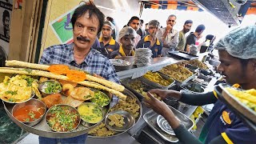
[[[154,72],[154,73],[158,73],[158,72]],[[160,74],[160,76],[161,76],[162,78],[166,79],[166,80],[170,79],[170,77],[167,76],[166,74],[162,74],[162,73],[158,73],[158,74]],[[154,87],[154,88],[164,89],[164,90],[167,90],[167,89],[169,89],[171,86],[174,85],[175,80],[174,80],[174,78],[171,78],[171,79],[173,80],[173,82],[171,82],[169,86],[162,86],[162,85],[160,85],[160,84],[158,84],[158,83],[156,83],[156,82],[152,82],[152,81],[148,80],[147,78],[144,78],[143,76],[142,76],[142,77],[139,77],[139,80],[141,80],[143,83],[146,83],[146,85],[151,86],[151,87]]]

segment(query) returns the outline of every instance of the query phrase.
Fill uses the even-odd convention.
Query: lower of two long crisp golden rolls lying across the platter
[[[0,67],[0,73],[36,75],[36,76],[42,76],[42,77],[47,77],[47,78],[68,80],[68,78],[64,75],[52,74],[50,72],[46,72],[46,71],[42,71],[42,70],[31,70],[31,69],[27,70],[27,69],[21,69],[21,68]],[[112,83],[114,83],[114,82],[112,82]],[[83,86],[92,87],[92,88],[99,89],[99,90],[106,90],[112,94],[115,94],[119,98],[126,98],[125,94],[122,94],[121,92],[119,92],[117,90],[110,89],[106,86],[102,86],[96,82],[83,81],[83,82],[78,82],[78,84],[81,84]],[[118,84],[116,83],[116,85],[118,85]],[[121,85],[119,85],[119,86],[121,86]]]

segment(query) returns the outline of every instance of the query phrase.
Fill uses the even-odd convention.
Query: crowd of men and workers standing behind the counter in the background
[[[114,19],[107,17],[102,28],[102,33],[99,34],[100,44],[96,41],[93,47],[111,59],[134,56],[134,50],[138,48],[149,48],[152,50],[152,58],[158,58],[168,55],[168,52],[173,50],[190,53],[190,46],[192,45],[198,46],[198,51],[201,52],[208,50],[210,44],[213,46],[214,40],[211,39],[210,42],[198,43],[198,39],[202,38],[202,32],[206,29],[206,26],[197,26],[196,30],[186,37],[186,33],[190,31],[193,21],[186,20],[183,29],[178,31],[174,29],[176,19],[176,15],[170,14],[166,20],[166,27],[161,27],[158,20],[151,20],[145,24],[146,29],[144,30],[142,28],[144,21],[137,16],[133,16],[127,22],[126,26],[123,26],[123,29],[118,32],[115,28]],[[130,28],[127,29],[126,27]],[[126,36],[129,34],[133,34],[134,38],[127,39]],[[207,38],[208,35],[206,36],[206,40]],[[202,45],[206,49],[200,50]]]

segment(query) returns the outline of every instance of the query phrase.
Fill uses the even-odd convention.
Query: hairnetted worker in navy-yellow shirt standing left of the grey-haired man
[[[149,22],[149,35],[141,39],[138,42],[136,48],[150,48],[152,51],[152,58],[161,57],[162,54],[162,43],[156,38],[156,34],[160,29],[160,23],[157,20],[152,20]]]

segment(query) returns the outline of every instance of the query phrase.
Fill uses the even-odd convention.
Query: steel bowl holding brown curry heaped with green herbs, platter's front
[[[75,127],[73,128],[73,130],[77,129],[78,126],[79,126],[79,124],[80,124],[80,122],[81,122],[81,118],[80,118],[80,114],[78,113],[78,110],[75,109],[74,107],[70,106],[70,105],[58,104],[58,105],[55,105],[55,106],[51,106],[50,109],[47,110],[47,112],[46,112],[45,120],[46,120],[47,126],[50,128],[50,130],[57,131],[58,133],[67,133],[67,132],[72,131],[72,130],[58,131],[58,130],[54,130],[52,127],[49,126],[49,123],[48,123],[48,121],[47,121],[47,118],[48,118],[47,116],[50,115],[51,111],[52,111],[52,110],[54,109],[54,107],[56,107],[56,106],[66,106],[66,107],[68,107],[70,110],[74,110],[74,112],[75,112],[76,114],[78,114],[78,121],[79,121],[79,122],[78,122],[77,126],[75,126]]]

